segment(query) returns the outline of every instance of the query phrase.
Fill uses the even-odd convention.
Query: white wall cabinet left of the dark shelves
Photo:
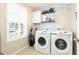
[[[41,11],[34,11],[32,13],[33,23],[41,23]]]

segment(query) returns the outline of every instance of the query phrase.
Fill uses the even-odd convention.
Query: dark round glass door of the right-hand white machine
[[[67,48],[67,43],[65,40],[59,38],[55,41],[55,45],[60,50],[65,50]]]

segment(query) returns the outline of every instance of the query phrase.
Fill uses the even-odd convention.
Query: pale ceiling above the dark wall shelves
[[[46,10],[49,8],[58,9],[69,9],[72,6],[72,3],[28,3],[33,10]]]

